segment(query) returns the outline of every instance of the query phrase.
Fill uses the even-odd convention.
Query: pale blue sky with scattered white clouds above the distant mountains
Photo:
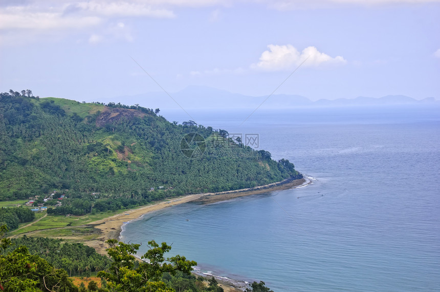
[[[440,99],[439,19],[440,0],[2,0],[0,91],[160,91],[148,72],[260,96],[297,69],[276,93]]]

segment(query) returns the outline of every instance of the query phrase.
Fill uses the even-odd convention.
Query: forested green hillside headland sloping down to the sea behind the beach
[[[158,113],[0,93],[0,200],[61,190],[147,202],[301,177],[225,130]]]

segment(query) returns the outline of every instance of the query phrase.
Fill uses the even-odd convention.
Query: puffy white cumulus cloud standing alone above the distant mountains
[[[276,71],[294,69],[304,61],[303,66],[308,67],[343,65],[347,62],[341,56],[332,58],[321,53],[314,46],[304,48],[301,53],[291,44],[270,44],[268,48],[268,51],[261,54],[260,61],[257,64],[252,64],[251,68]]]

